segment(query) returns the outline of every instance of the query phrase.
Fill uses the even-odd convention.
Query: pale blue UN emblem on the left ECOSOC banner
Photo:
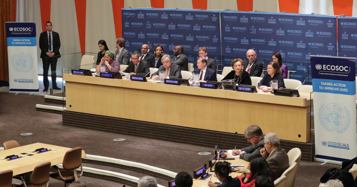
[[[29,72],[32,67],[34,67],[34,59],[30,54],[26,53],[15,53],[11,58],[11,65],[15,71],[21,72]]]

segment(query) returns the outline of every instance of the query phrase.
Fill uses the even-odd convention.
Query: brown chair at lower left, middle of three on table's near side
[[[50,167],[51,162],[45,162],[37,165],[34,168],[34,171],[31,173],[30,183],[26,184],[24,178],[19,176],[14,176],[14,178],[21,180],[22,185],[16,187],[39,187],[47,186],[48,181],[50,180]]]

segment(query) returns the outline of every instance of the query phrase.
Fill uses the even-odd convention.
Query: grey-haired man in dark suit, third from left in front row
[[[182,78],[181,76],[181,67],[171,62],[171,57],[168,54],[165,54],[161,58],[162,65],[159,67],[157,72],[153,73],[151,77],[159,77],[159,71],[165,72],[165,78]]]

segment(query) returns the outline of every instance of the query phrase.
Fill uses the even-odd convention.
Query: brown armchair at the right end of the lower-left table
[[[65,186],[73,181],[78,181],[78,177],[83,174],[82,147],[76,147],[68,150],[63,158],[62,166],[64,170],[60,170],[57,166],[52,166],[56,168],[57,171],[51,173],[50,177],[64,181]],[[77,172],[77,168],[79,167],[81,167],[81,173]]]

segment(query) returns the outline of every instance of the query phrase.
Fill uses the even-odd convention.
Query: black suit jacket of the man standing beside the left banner
[[[48,35],[47,31],[41,32],[40,34],[40,40],[39,40],[39,47],[41,49],[41,54],[40,58],[46,58],[47,55],[46,53],[48,52]],[[54,57],[60,58],[60,47],[61,47],[61,41],[60,41],[60,35],[52,31],[52,51],[55,53]]]

